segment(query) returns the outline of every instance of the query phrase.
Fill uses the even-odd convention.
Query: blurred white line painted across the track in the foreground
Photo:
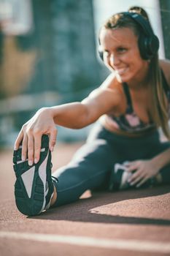
[[[17,233],[0,231],[0,238],[22,239],[40,242],[72,244],[76,246],[93,246],[105,249],[128,249],[140,252],[170,253],[170,242],[140,241],[124,239],[104,239],[87,236],[59,236],[41,233]]]

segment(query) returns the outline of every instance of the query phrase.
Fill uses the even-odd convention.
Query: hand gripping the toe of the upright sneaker
[[[49,148],[50,151],[53,151],[57,129],[50,108],[41,108],[38,110],[36,114],[23,125],[15,141],[15,150],[17,150],[23,140],[22,160],[25,161],[28,155],[28,165],[39,162],[43,134],[50,135]]]

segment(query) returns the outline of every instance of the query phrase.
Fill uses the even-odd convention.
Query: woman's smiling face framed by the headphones
[[[118,80],[129,85],[143,83],[149,62],[141,58],[138,37],[132,29],[101,29],[100,42],[104,64],[115,70]]]

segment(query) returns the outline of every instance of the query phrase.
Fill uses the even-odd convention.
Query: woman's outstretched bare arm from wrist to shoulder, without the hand
[[[55,124],[80,129],[92,124],[104,113],[114,109],[120,95],[114,89],[96,89],[82,102],[73,102],[50,108]]]

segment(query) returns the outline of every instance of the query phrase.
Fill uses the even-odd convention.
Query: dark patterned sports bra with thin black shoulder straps
[[[166,97],[169,102],[168,111],[170,117],[170,87],[166,81],[166,78],[161,70],[162,81],[163,81],[163,89],[166,93]],[[108,115],[109,123],[111,123],[112,127],[116,129],[121,129],[126,132],[134,133],[134,132],[144,132],[149,129],[155,128],[155,124],[150,121],[149,123],[144,123],[139,116],[134,112],[134,108],[131,102],[131,94],[128,89],[127,83],[123,83],[123,91],[125,93],[125,97],[127,100],[127,108],[125,113],[120,116],[112,116]]]

